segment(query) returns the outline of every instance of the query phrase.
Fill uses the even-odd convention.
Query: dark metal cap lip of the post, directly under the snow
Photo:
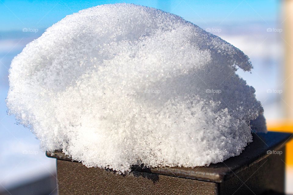
[[[284,147],[285,142],[288,142],[291,138],[293,138],[292,134],[280,132],[253,134],[253,142],[244,149],[241,155],[229,158],[223,163],[211,164],[208,167],[144,168],[133,166],[132,170],[220,183],[268,157],[268,150],[277,151]],[[60,151],[47,153],[47,156],[72,161],[69,156],[65,156]]]

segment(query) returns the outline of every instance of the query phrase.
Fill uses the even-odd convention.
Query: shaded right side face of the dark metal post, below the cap
[[[219,183],[219,194],[269,194],[268,191],[283,194],[285,182],[285,146],[273,154],[235,173],[230,179]]]

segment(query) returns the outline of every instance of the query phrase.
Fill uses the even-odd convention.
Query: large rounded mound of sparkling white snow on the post
[[[266,131],[239,49],[181,17],[131,4],[65,17],[17,55],[9,114],[42,149],[88,167],[204,166]]]

